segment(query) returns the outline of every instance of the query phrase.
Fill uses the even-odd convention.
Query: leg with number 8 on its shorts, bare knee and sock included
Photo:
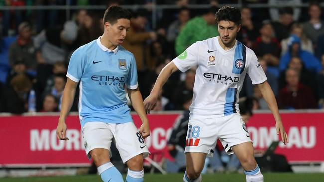
[[[148,147],[133,122],[117,124],[114,128],[116,148],[128,171],[126,182],[143,182],[143,159],[149,155]]]

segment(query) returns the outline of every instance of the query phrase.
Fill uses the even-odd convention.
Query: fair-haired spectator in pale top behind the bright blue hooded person
[[[311,39],[307,38],[305,33],[303,32],[303,27],[299,23],[294,23],[292,25],[292,29],[290,31],[291,35],[296,35],[301,39],[301,49],[308,51],[313,54],[313,44]],[[283,56],[287,50],[288,50],[288,43],[289,43],[290,38],[283,39],[281,41],[281,56]]]

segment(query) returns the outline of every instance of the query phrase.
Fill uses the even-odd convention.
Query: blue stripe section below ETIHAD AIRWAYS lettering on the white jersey
[[[236,94],[237,88],[228,88],[226,92],[225,104],[224,104],[224,115],[231,115],[236,112]]]

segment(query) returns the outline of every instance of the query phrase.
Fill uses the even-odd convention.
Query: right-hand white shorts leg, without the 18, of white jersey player
[[[233,154],[232,147],[235,145],[252,142],[240,114],[224,116],[219,128],[218,137],[227,154]]]

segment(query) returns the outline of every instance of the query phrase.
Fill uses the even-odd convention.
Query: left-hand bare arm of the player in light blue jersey
[[[63,92],[60,118],[58,120],[58,125],[56,129],[57,138],[60,140],[68,140],[68,138],[65,135],[67,129],[65,119],[72,107],[77,85],[77,82],[74,82],[71,79],[67,78],[67,82]]]

